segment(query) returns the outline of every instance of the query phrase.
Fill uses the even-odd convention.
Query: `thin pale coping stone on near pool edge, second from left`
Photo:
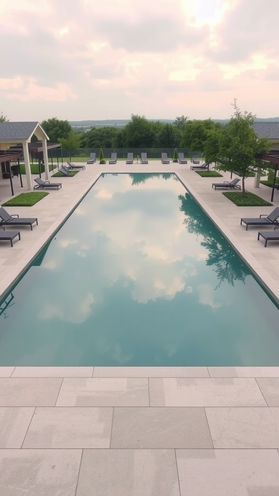
[[[12,367],[14,369],[14,367]],[[92,377],[94,367],[15,367],[12,377]],[[0,367],[1,373],[1,367]]]

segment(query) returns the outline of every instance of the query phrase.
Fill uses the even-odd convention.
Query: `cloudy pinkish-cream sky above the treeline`
[[[278,0],[0,0],[10,121],[279,116]]]

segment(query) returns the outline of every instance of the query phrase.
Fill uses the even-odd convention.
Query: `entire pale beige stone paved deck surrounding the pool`
[[[1,243],[0,295],[100,172],[176,172],[279,299],[279,244],[239,225],[273,207],[236,207],[211,188],[228,174],[159,161],[88,165],[33,207],[7,208],[39,226]],[[279,367],[0,367],[0,495],[278,496]]]

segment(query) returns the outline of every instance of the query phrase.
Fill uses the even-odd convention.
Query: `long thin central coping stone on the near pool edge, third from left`
[[[93,377],[209,377],[207,367],[94,367]]]

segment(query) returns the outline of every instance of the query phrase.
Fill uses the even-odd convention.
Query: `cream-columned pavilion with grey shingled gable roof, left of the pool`
[[[37,139],[41,140],[41,148],[45,164],[46,179],[49,179],[49,163],[48,163],[48,150],[47,140],[48,135],[38,122],[5,122],[0,123],[0,150],[5,151],[7,154],[10,152],[12,145],[20,145],[25,163],[25,174],[27,189],[32,190],[32,175],[29,159],[29,143],[32,136],[35,135]],[[35,145],[36,143],[34,143]],[[8,161],[8,159],[5,159]]]

